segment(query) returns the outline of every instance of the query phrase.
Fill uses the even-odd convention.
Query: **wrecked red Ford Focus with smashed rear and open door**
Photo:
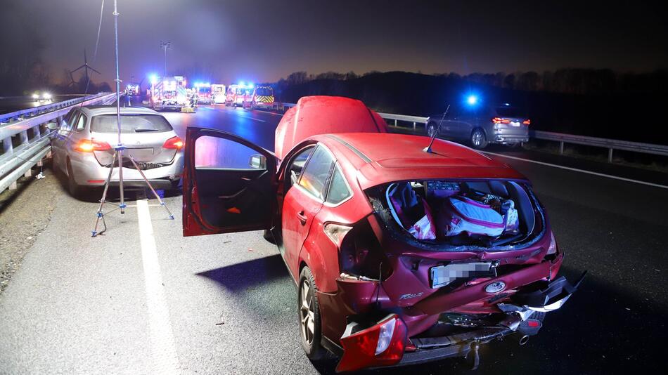
[[[429,143],[324,96],[285,114],[275,155],[189,128],[184,236],[271,232],[297,284],[302,346],[340,355],[337,371],[477,363],[480,344],[537,334],[580,281],[557,277],[564,254],[525,177]]]

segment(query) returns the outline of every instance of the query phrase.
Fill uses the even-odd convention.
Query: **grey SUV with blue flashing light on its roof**
[[[429,136],[441,124],[439,136],[464,141],[481,149],[489,143],[511,147],[529,141],[529,120],[517,107],[508,104],[498,107],[451,107],[446,117],[443,114],[430,116],[425,123]]]

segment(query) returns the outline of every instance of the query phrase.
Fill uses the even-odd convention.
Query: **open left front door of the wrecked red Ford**
[[[184,236],[271,227],[276,157],[224,131],[186,130]]]

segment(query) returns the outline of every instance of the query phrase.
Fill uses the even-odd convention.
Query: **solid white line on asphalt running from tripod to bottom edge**
[[[176,357],[172,324],[169,322],[169,310],[165,299],[165,290],[160,275],[158,251],[155,248],[153,225],[150,223],[150,211],[146,199],[137,201],[139,218],[139,239],[141,259],[146,283],[146,305],[148,308],[148,326],[150,331],[150,350],[153,354],[153,373],[178,374],[179,359]]]

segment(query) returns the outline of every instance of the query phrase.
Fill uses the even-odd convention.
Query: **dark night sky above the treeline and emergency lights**
[[[169,73],[222,83],[275,81],[300,70],[468,74],[668,67],[667,13],[659,6],[589,3],[118,0],[120,73],[137,81],[162,73],[160,40],[173,45]],[[101,0],[0,4],[0,38],[12,38],[5,46],[39,51],[56,80],[82,64],[85,47],[102,80],[112,82],[113,0],[105,0],[96,57]]]

